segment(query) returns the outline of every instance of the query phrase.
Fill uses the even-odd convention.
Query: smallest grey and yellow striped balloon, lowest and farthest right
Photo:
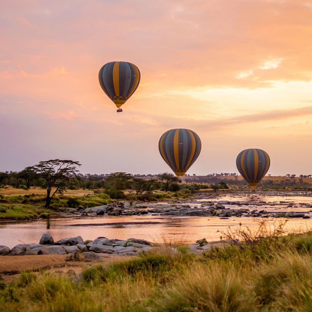
[[[270,168],[270,157],[262,149],[244,149],[236,158],[236,167],[252,189]]]

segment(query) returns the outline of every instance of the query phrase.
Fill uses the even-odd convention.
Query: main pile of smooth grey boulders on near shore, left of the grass
[[[67,260],[95,260],[99,257],[110,255],[134,256],[144,251],[150,251],[153,243],[142,239],[129,238],[127,240],[108,239],[106,237],[96,238],[94,241],[84,241],[81,236],[68,237],[54,242],[53,237],[44,233],[39,244],[18,244],[10,249],[0,246],[0,255],[29,256],[29,255],[51,255],[68,254]]]

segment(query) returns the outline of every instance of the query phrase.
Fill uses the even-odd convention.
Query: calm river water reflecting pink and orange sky
[[[312,208],[302,207],[300,203],[312,203],[312,197],[303,196],[250,196],[250,195],[223,195],[213,200],[229,201],[255,201],[255,206],[225,205],[230,208],[248,208],[250,210],[265,209],[266,211],[309,212]],[[265,201],[266,204],[259,207],[256,202]],[[280,204],[280,201],[294,202],[297,205],[287,207],[288,203]],[[163,204],[163,203],[161,203]],[[198,204],[199,206],[200,204]],[[197,206],[190,204],[190,206]],[[310,214],[312,217],[312,214]],[[0,245],[10,248],[19,243],[39,243],[44,232],[50,233],[54,241],[66,237],[82,236],[84,240],[94,240],[99,236],[107,238],[128,239],[130,237],[146,239],[154,242],[183,242],[194,243],[205,237],[208,241],[220,239],[220,232],[228,227],[257,227],[257,220],[251,217],[230,217],[219,219],[218,217],[178,217],[178,216],[76,216],[57,217],[50,220],[36,220],[23,222],[0,222]],[[268,218],[272,224],[281,218]],[[149,222],[149,223],[146,223]],[[285,226],[288,232],[307,231],[312,228],[312,218],[290,218]]]

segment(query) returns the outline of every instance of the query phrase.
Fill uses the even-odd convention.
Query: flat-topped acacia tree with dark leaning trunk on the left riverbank
[[[71,179],[80,180],[77,174],[77,166],[81,166],[78,161],[51,159],[41,161],[37,165],[27,167],[27,170],[35,171],[41,178],[46,181],[46,204],[44,207],[49,207],[51,199],[56,193],[62,194],[66,191],[66,182]],[[52,193],[52,188],[56,190]]]

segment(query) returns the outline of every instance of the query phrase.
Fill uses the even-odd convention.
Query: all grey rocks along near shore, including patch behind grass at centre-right
[[[227,241],[222,241],[227,243]],[[185,245],[187,252],[201,255],[212,245],[221,241],[207,241],[205,238],[194,244]],[[54,242],[53,237],[44,233],[39,244],[18,244],[10,249],[0,246],[0,256],[29,256],[29,255],[68,255],[65,261],[98,261],[101,257],[135,256],[150,251],[166,251],[171,256],[180,254],[177,245],[154,244],[143,239],[129,238],[127,240],[98,237],[94,241],[83,241],[81,236],[68,237]]]

